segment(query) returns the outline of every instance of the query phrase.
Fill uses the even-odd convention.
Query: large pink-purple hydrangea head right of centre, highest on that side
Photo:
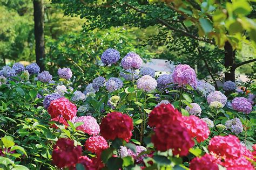
[[[188,65],[178,65],[173,70],[172,80],[176,84],[186,85],[190,84],[193,87],[196,87],[197,84],[197,75]]]

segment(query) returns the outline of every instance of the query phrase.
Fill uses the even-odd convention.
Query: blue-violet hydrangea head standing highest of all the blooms
[[[116,63],[120,59],[120,53],[116,49],[109,48],[102,53],[100,58],[105,65]]]

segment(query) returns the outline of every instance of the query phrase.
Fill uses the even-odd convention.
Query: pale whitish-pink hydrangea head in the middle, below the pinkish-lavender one
[[[144,91],[152,91],[156,89],[157,81],[150,75],[144,75],[137,81],[137,88]]]

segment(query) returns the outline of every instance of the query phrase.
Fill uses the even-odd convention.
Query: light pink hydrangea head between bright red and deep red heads
[[[77,127],[77,130],[83,131],[84,133],[97,136],[99,134],[99,125],[95,118],[92,116],[80,116],[76,119],[75,123],[83,122],[84,124]]]

